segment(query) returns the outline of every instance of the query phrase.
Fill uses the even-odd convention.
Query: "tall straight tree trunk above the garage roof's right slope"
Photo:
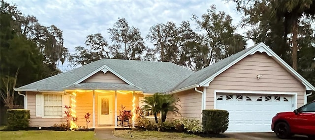
[[[292,67],[295,71],[297,71],[297,20],[293,20],[293,36],[292,36]]]

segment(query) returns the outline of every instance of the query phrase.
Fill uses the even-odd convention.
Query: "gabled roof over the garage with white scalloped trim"
[[[280,58],[276,53],[274,53],[269,47],[264,43],[258,43],[248,49],[238,52],[232,56],[229,56],[221,61],[210,65],[204,69],[197,71],[196,73],[190,75],[185,81],[178,84],[172,92],[175,93],[183,89],[199,87],[199,86],[209,86],[210,82],[214,80],[219,74],[227,70],[229,67],[233,66],[235,63],[239,62],[248,55],[253,55],[256,52],[266,53],[268,56],[272,56],[279,64],[284,66],[294,77],[296,77],[302,84],[305,85],[306,90],[315,91],[315,87],[306,81],[300,74],[298,74],[291,66],[289,66],[282,58]]]

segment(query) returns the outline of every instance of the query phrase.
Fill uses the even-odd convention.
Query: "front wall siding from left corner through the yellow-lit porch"
[[[35,95],[40,94],[37,92],[27,92],[28,98],[28,110],[30,110],[30,126],[33,127],[51,127],[54,124],[65,122],[65,118],[42,118],[36,117],[35,114]],[[76,92],[76,115],[78,117],[77,126],[86,126],[86,121],[84,115],[86,112],[91,113],[89,127],[93,127],[93,92]],[[125,106],[125,110],[132,111],[132,93],[122,94],[117,93],[117,113],[115,114],[115,91],[109,93],[98,93],[95,92],[95,126],[98,126],[98,95],[112,95],[113,97],[113,126],[116,123],[115,116],[119,115],[119,110],[121,110],[121,105]],[[138,106],[139,97],[143,97],[143,94],[134,94],[135,105]],[[70,97],[71,98],[71,97]],[[71,104],[71,101],[70,101]]]

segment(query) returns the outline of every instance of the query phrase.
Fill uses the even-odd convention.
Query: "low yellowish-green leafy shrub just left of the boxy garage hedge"
[[[174,126],[175,126],[175,129],[180,132],[187,131],[187,132],[196,133],[196,132],[201,132],[201,129],[202,129],[200,126],[200,121],[194,118],[176,119],[174,121]]]

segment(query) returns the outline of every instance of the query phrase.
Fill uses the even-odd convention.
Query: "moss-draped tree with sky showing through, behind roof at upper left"
[[[38,23],[35,16],[24,16],[15,4],[10,5],[1,0],[1,12],[12,17],[11,27],[17,35],[26,37],[36,43],[43,54],[47,76],[52,76],[60,72],[57,68],[58,62],[65,61],[68,50],[63,46],[63,31],[54,25],[49,27]],[[57,72],[57,73],[56,73]]]

